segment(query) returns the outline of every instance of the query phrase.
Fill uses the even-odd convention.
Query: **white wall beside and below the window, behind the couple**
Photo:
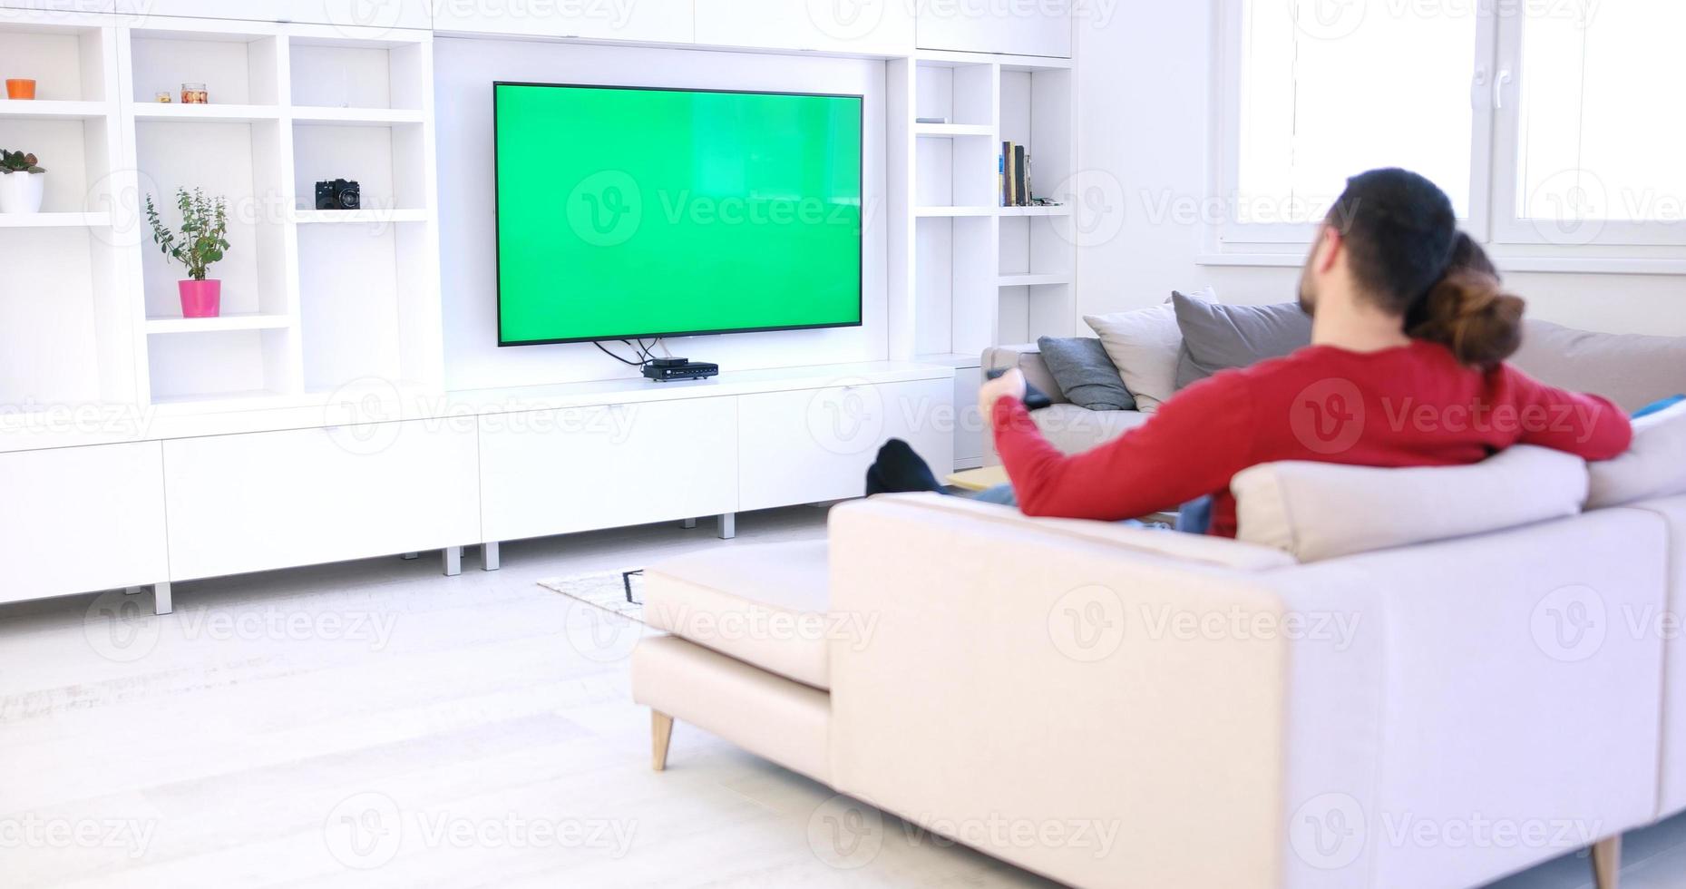
[[[1079,314],[1163,302],[1214,285],[1226,302],[1293,299],[1295,268],[1199,265],[1200,223],[1167,206],[1209,199],[1214,0],[1120,0],[1077,25]],[[1354,170],[1357,172],[1357,170]],[[1096,209],[1104,207],[1104,209]],[[1116,234],[1114,234],[1116,231]],[[1502,265],[1502,263],[1501,263]],[[1536,317],[1585,329],[1686,336],[1686,278],[1511,273]]]

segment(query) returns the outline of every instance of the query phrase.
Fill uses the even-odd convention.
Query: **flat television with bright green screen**
[[[862,98],[497,83],[497,342],[862,322]]]

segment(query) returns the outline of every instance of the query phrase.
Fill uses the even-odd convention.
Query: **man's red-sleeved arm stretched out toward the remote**
[[[1042,437],[1013,395],[995,400],[988,417],[1025,515],[1116,521],[1222,491],[1251,466],[1246,386],[1239,374],[1195,383],[1145,425],[1071,457]]]

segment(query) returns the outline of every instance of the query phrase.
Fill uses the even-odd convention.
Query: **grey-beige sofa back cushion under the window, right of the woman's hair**
[[[1511,363],[1543,383],[1602,395],[1622,410],[1686,393],[1686,337],[1598,334],[1529,319]]]

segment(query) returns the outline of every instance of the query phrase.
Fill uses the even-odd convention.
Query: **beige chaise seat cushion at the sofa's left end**
[[[824,540],[711,547],[644,572],[644,622],[728,658],[830,688]]]

